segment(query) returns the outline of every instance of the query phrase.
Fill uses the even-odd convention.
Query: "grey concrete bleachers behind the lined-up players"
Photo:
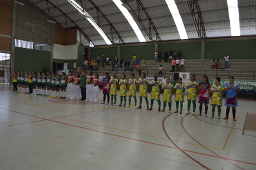
[[[221,77],[221,79],[228,79],[230,75],[234,76],[235,79],[243,80],[256,80],[256,59],[230,59],[230,70],[225,70],[225,62],[223,59],[220,60],[221,69],[211,69],[211,59],[186,59],[184,68],[185,72],[195,74],[196,78],[202,77],[202,75],[207,75],[209,79],[215,79],[216,77]],[[163,65],[163,74],[166,76],[173,77],[174,72],[172,70],[171,63],[155,63],[154,60],[147,60],[144,72],[147,77],[153,77],[159,71],[159,66]],[[120,66],[120,65],[118,65]],[[135,67],[135,66],[134,66]],[[119,79],[122,73],[130,74],[131,72],[124,72],[123,68],[118,68],[117,71],[111,70],[112,66],[98,66],[98,70],[93,73],[99,73],[99,75],[104,75],[105,72],[116,73],[116,77]],[[224,69],[223,69],[224,68]],[[139,73],[136,72],[136,68],[132,72],[136,77],[139,76]]]

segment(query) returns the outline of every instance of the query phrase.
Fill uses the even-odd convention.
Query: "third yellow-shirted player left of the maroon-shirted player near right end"
[[[170,77],[166,77],[166,82],[164,82],[163,86],[161,87],[161,89],[164,90],[163,93],[163,103],[164,103],[164,107],[161,110],[161,112],[165,111],[165,107],[166,107],[166,102],[168,102],[169,105],[169,112],[172,112],[172,91],[173,91],[173,84],[170,82]]]

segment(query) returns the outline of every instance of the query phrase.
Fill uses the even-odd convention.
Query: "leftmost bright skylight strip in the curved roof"
[[[110,42],[108,36],[104,33],[104,31],[98,26],[98,24],[95,22],[95,20],[92,19],[92,17],[84,11],[84,9],[76,3],[76,1],[74,0],[68,0],[68,3],[72,4],[72,6],[74,6],[77,11],[79,11],[81,13],[81,15],[84,15],[84,17],[86,17],[86,19],[92,24],[92,26],[98,31],[98,33],[102,36],[102,38],[104,39],[104,41],[108,44],[111,45],[112,43]]]

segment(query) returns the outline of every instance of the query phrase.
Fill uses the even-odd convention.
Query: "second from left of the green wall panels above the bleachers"
[[[128,47],[121,47],[121,56],[123,59],[132,60],[132,56],[135,54],[139,59],[145,58],[154,59],[154,45],[134,45]]]

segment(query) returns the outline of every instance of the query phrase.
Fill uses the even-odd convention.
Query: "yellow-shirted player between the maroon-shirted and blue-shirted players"
[[[220,77],[215,79],[215,84],[210,89],[210,93],[212,93],[212,116],[214,118],[214,112],[217,105],[218,108],[218,119],[220,119],[221,106],[222,106],[222,95],[224,95],[224,88],[220,86]]]

